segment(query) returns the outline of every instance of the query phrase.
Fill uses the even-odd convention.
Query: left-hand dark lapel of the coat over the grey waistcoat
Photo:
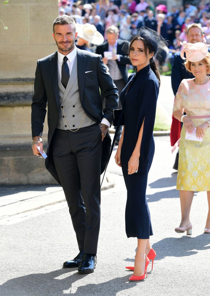
[[[55,94],[57,105],[60,108],[58,93],[58,52],[55,52],[50,59],[50,74],[52,81],[52,89]]]

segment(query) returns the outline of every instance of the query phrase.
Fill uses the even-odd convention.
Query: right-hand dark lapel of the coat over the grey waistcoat
[[[84,89],[84,82],[85,82],[86,59],[87,58],[83,54],[83,52],[77,48],[77,73],[79,74],[78,88],[79,88],[79,97],[80,97],[81,105],[82,105],[83,89]]]

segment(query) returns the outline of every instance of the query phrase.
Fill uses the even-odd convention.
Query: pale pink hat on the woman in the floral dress
[[[208,47],[210,46],[210,44],[204,44],[202,42],[192,44],[187,43],[187,41],[184,41],[181,45],[184,47],[180,53],[181,58],[187,59],[190,62],[199,62],[204,59],[208,54]],[[184,57],[184,53],[186,53],[186,58]]]

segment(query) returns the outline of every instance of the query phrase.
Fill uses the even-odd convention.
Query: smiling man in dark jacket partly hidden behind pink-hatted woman
[[[205,40],[204,37],[205,37],[204,31],[201,25],[193,23],[188,26],[187,39],[189,43],[194,44],[196,42],[204,42]],[[210,52],[209,48],[208,48],[208,51]],[[172,63],[172,69],[171,69],[171,86],[173,89],[174,96],[176,95],[179,85],[183,79],[189,79],[194,77],[192,73],[186,70],[183,64],[184,64],[184,61],[180,56],[180,52],[175,53],[173,56],[173,63]],[[170,132],[171,146],[173,146],[175,142],[180,138],[180,133],[177,135],[177,130],[178,131],[181,130],[181,123],[173,117],[171,132]],[[173,168],[175,170],[178,170],[178,160],[179,160],[179,152],[177,152],[175,163],[173,165]]]

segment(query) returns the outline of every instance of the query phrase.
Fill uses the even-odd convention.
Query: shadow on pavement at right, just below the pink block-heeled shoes
[[[168,237],[152,245],[157,253],[155,260],[165,257],[185,257],[197,254],[195,250],[209,250],[210,235],[200,234],[197,237],[183,235],[180,238]]]

